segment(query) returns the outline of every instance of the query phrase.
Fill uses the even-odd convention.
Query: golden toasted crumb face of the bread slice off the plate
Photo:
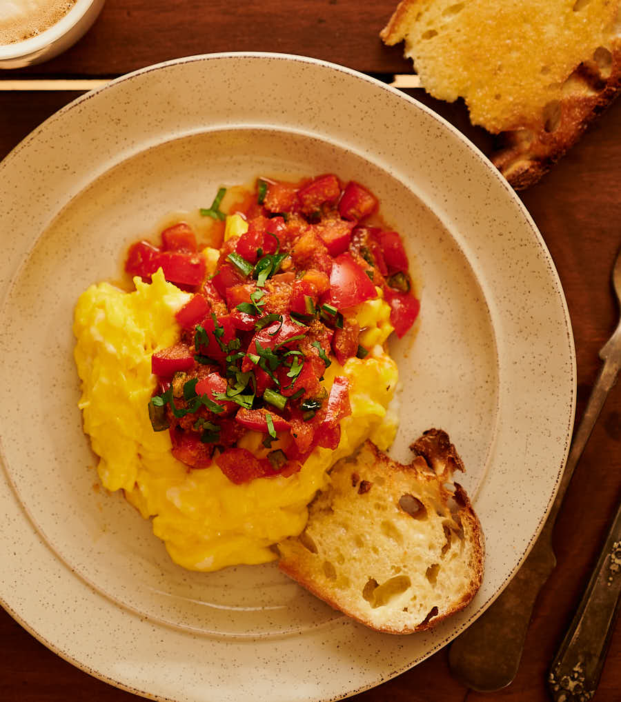
[[[381,32],[405,41],[433,97],[462,97],[492,133],[535,128],[584,60],[610,60],[618,0],[404,0]]]

